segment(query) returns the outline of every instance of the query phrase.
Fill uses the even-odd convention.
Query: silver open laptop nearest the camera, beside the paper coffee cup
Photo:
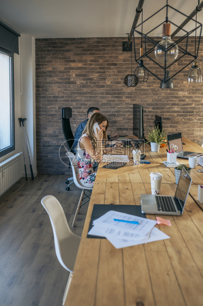
[[[141,194],[141,212],[180,216],[183,214],[192,179],[185,168],[182,169],[174,196]]]

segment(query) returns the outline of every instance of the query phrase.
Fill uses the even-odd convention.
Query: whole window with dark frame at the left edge
[[[0,157],[15,150],[13,52],[0,48]]]

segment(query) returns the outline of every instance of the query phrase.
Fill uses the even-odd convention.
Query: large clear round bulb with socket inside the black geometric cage
[[[163,39],[155,47],[155,57],[161,64],[165,63],[165,55],[167,64],[172,63],[178,56],[178,46],[170,38],[170,23],[163,24]],[[171,47],[170,47],[171,46]]]

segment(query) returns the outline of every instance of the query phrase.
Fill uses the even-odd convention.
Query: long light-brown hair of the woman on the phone
[[[95,132],[94,132],[93,126],[94,126],[95,122],[98,122],[98,124],[101,124],[103,121],[107,122],[105,131],[103,132],[103,142],[104,142],[104,146],[105,146],[106,141],[107,141],[106,130],[108,128],[108,119],[104,115],[102,115],[100,113],[95,113],[95,114],[91,115],[91,117],[87,121],[86,127],[85,127],[85,129],[82,133],[82,135],[83,134],[88,135],[94,149],[97,147],[97,138],[95,137]]]

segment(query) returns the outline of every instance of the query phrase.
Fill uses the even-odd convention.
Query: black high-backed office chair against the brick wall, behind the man
[[[64,133],[64,138],[66,140],[66,144],[68,147],[68,151],[73,152],[72,150],[72,145],[74,142],[74,136],[72,134],[72,130],[70,127],[70,118],[72,117],[72,110],[70,107],[64,107],[61,110],[61,118],[62,118],[62,129],[63,129],[63,133]],[[69,164],[69,168],[70,168],[70,164]],[[69,183],[69,180],[72,180],[71,183]],[[68,184],[68,187],[66,188],[66,190],[70,190],[69,186],[73,183],[73,177],[68,178],[68,180],[66,180],[66,184]]]

